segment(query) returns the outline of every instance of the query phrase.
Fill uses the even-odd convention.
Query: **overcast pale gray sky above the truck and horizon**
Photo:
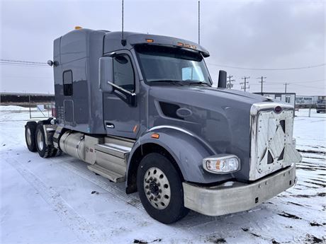
[[[0,0],[0,58],[33,62],[52,59],[53,40],[74,29],[120,30],[121,1]],[[169,35],[198,42],[198,1],[125,0],[125,30]],[[225,69],[240,89],[326,95],[325,1],[201,0],[201,45],[213,80]],[[223,65],[223,66],[221,66]],[[250,69],[235,69],[236,66]],[[50,66],[0,64],[0,91],[54,93]]]

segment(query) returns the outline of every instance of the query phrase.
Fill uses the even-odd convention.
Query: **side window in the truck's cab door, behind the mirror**
[[[113,59],[114,83],[125,90],[135,91],[135,74],[128,55],[118,55]]]

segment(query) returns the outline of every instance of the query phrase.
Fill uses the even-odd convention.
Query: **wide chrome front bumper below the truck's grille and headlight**
[[[226,182],[202,187],[183,182],[184,206],[209,216],[232,214],[252,209],[296,183],[296,165],[251,184]]]

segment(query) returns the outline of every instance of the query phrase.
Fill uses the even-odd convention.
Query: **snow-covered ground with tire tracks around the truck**
[[[164,225],[137,193],[64,155],[44,159],[25,146],[28,112],[0,112],[1,243],[325,243],[326,115],[296,112],[303,155],[298,184],[250,211],[209,217],[191,211]]]

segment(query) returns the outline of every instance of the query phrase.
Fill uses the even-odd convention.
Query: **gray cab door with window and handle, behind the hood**
[[[135,139],[140,127],[140,105],[137,99],[139,76],[133,56],[127,50],[116,52],[113,57],[114,84],[135,93],[136,102],[131,105],[125,95],[113,88],[111,93],[103,93],[103,122],[106,133]]]

